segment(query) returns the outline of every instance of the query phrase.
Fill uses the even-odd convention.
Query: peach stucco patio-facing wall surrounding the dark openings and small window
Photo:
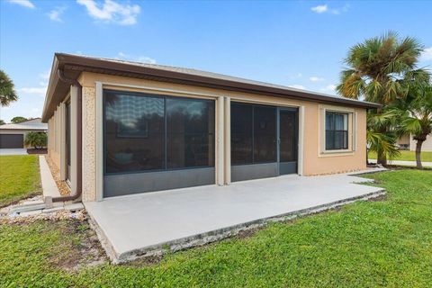
[[[322,137],[322,134],[320,134],[322,128],[320,127],[323,127],[323,123],[321,123],[322,112],[320,112],[323,104],[320,103],[87,72],[80,76],[79,82],[83,85],[83,201],[96,200],[96,82],[109,83],[110,85],[105,85],[105,87],[119,90],[145,91],[140,87],[121,87],[116,86],[116,84],[169,90],[159,91],[158,94],[176,95],[174,90],[180,90],[191,93],[188,96],[193,97],[200,97],[200,94],[204,94],[202,97],[208,97],[205,94],[211,94],[230,97],[230,101],[269,103],[279,106],[303,106],[303,175],[342,173],[361,170],[366,167],[366,112],[362,108],[349,108],[352,110],[350,124],[353,127],[351,131],[353,132],[355,129],[357,131],[355,139],[350,138],[350,148],[353,151],[325,154],[320,148],[320,145],[322,145],[320,144],[322,142],[322,139],[320,139]],[[153,91],[152,93],[156,92]],[[344,106],[333,107],[340,108],[342,111],[347,109]]]

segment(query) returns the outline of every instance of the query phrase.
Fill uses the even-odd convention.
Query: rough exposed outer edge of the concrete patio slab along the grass
[[[110,243],[109,239],[106,238],[105,234],[103,233],[103,229],[100,228],[100,226],[97,224],[97,222],[94,220],[94,217],[89,213],[89,222],[91,227],[95,230],[97,237],[99,238],[101,245],[103,249],[105,250],[107,256],[112,261],[112,264],[121,264],[130,262],[142,257],[151,257],[151,256],[160,256],[166,253],[168,247],[169,250],[172,252],[188,249],[191,247],[200,247],[206,244],[210,244],[212,242],[219,241],[224,238],[231,238],[238,233],[242,231],[247,231],[250,229],[257,229],[263,226],[266,226],[268,223],[271,222],[280,222],[280,221],[286,221],[286,220],[293,220],[298,217],[322,212],[322,211],[329,211],[331,209],[335,209],[339,206],[343,206],[352,202],[357,201],[366,201],[372,198],[376,198],[382,195],[385,195],[386,192],[384,189],[380,189],[378,191],[372,192],[372,193],[366,193],[355,197],[346,198],[343,200],[339,200],[336,202],[329,202],[326,204],[321,204],[318,206],[298,210],[298,211],[291,211],[288,213],[280,214],[271,216],[268,218],[262,218],[258,220],[248,221],[245,223],[241,223],[234,226],[229,226],[222,229],[215,229],[208,232],[204,232],[201,234],[196,234],[191,237],[185,237],[185,238],[178,238],[175,240],[159,243],[157,245],[148,246],[148,247],[142,247],[139,249],[130,250],[125,253],[118,254],[115,252],[115,249],[112,247],[112,244]]]

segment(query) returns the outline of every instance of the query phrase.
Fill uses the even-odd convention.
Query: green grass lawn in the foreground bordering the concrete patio
[[[83,246],[85,224],[2,225],[0,286],[430,287],[432,172],[366,177],[387,189],[386,199],[275,223],[156,264],[105,263],[67,272],[60,266]]]

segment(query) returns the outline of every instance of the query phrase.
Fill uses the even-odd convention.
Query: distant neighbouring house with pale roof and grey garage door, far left
[[[47,132],[48,125],[40,118],[0,125],[0,148],[24,148],[28,132]]]

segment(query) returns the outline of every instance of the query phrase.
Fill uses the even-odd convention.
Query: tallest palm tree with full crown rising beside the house
[[[417,67],[422,50],[419,40],[411,37],[399,39],[392,31],[356,44],[345,59],[348,67],[341,72],[338,94],[382,103],[384,108],[377,109],[377,115],[383,113],[386,105],[407,96],[410,85],[428,84],[428,71]],[[373,130],[375,136],[381,133],[383,139],[392,134],[389,134],[391,127],[387,125]],[[377,151],[378,163],[386,165],[384,150],[380,148]]]

